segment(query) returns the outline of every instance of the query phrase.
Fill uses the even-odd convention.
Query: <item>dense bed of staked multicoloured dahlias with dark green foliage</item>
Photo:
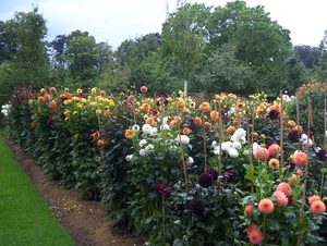
[[[120,232],[148,233],[150,245],[324,242],[326,150],[287,100],[17,90],[11,138],[108,205]]]

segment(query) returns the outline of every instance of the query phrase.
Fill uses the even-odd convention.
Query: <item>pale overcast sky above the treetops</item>
[[[97,42],[107,41],[116,50],[125,39],[160,33],[167,16],[166,0],[0,0],[0,21],[15,12],[29,12],[33,4],[47,20],[47,40],[80,29]],[[175,0],[168,0],[169,11]],[[226,5],[227,0],[189,0],[194,3]],[[327,29],[327,0],[246,0],[249,7],[264,5],[270,19],[291,30],[293,45],[319,46]]]

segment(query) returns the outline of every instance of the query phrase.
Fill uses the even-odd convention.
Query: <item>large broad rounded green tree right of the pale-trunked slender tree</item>
[[[264,7],[246,7],[245,1],[228,2],[226,7],[217,7],[207,24],[209,44],[206,51],[228,42],[237,46],[237,59],[251,65],[261,82],[257,89],[267,89],[267,94],[276,94],[284,75],[276,74],[292,56],[290,32],[272,22]],[[278,85],[279,87],[276,87]]]

